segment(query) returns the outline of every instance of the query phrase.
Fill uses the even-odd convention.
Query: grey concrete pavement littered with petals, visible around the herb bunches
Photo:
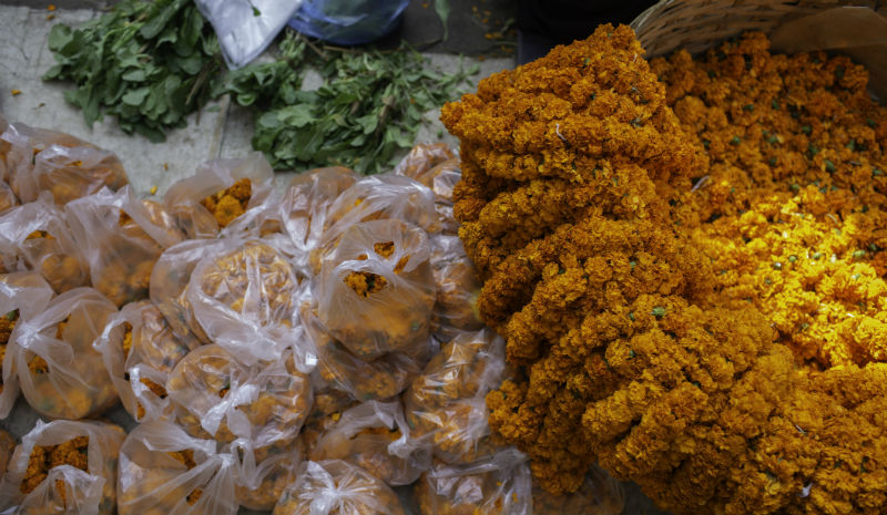
[[[54,3],[58,8],[48,11]],[[113,120],[106,119],[88,127],[82,113],[69,105],[63,92],[67,83],[44,83],[41,76],[54,63],[45,40],[55,23],[75,25],[101,14],[112,1],[103,0],[0,0],[0,114],[8,122],[23,122],[37,127],[67,132],[115,152],[126,167],[130,182],[142,195],[150,196],[156,186],[162,196],[175,181],[191,175],[197,164],[212,158],[242,156],[252,151],[252,114],[227,99],[212,103],[200,115],[194,114],[185,128],[172,131],[165,143],[151,143],[141,136],[124,134]],[[404,38],[420,49],[431,66],[456,70],[465,53],[465,64],[478,63],[480,73],[472,78],[466,91],[491,73],[514,66],[513,32],[509,31],[513,17],[513,2],[509,0],[452,0],[449,20],[450,38],[437,41],[442,27],[434,9],[434,0],[414,0],[405,14],[404,24],[387,41]],[[503,30],[506,29],[506,30]],[[502,37],[486,34],[503,32]],[[21,93],[13,95],[12,91]],[[443,131],[437,111],[425,115],[417,143],[442,141],[456,147],[458,142]],[[278,185],[284,185],[298,171],[277,174]],[[132,419],[118,408],[106,415],[125,428],[134,425]],[[38,415],[19,399],[19,402],[0,428],[16,436],[29,431]],[[655,515],[656,511],[634,485],[626,484],[626,514]],[[253,513],[242,511],[241,513]]]

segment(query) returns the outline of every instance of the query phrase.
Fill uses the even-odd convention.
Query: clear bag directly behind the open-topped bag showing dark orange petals
[[[371,175],[344,190],[327,209],[322,258],[353,225],[380,219],[407,222],[428,233],[440,231],[434,192],[409,177]]]

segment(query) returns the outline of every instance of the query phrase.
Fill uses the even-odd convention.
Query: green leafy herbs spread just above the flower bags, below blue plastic
[[[307,51],[306,48],[312,51]],[[340,165],[375,174],[389,169],[412,146],[422,115],[458,93],[468,75],[428,69],[409,48],[381,53],[318,49],[288,33],[275,63],[231,73],[221,91],[257,105],[253,147],[277,169]],[[299,70],[319,71],[324,84],[302,91]]]

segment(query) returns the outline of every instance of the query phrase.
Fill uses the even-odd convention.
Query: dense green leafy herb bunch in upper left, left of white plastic
[[[153,142],[206,103],[221,69],[215,33],[191,0],[123,0],[79,29],[53,25],[48,45],[57,64],[43,80],[77,84],[64,97],[88,125],[109,114]]]

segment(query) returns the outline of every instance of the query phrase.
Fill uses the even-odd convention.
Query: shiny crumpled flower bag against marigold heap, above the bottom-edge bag
[[[435,456],[447,463],[496,452],[485,396],[503,370],[504,343],[489,329],[446,343],[404,394],[411,437],[432,445]]]

